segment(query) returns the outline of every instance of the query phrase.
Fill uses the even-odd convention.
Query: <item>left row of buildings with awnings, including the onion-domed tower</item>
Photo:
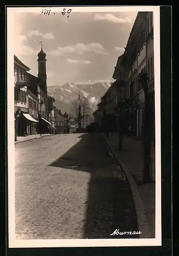
[[[47,96],[46,54],[38,53],[38,77],[28,73],[14,55],[14,132],[17,136],[51,133],[54,127],[54,101]],[[54,133],[54,132],[53,132]]]

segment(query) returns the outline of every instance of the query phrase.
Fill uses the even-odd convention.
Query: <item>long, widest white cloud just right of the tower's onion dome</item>
[[[86,52],[94,52],[96,54],[107,54],[105,48],[98,42],[92,42],[92,44],[76,44],[74,46],[58,47],[57,50],[49,52],[50,55],[62,56],[68,53],[83,54]]]

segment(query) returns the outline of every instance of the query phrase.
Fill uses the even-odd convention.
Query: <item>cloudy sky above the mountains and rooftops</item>
[[[48,86],[111,80],[137,12],[20,12],[14,15],[14,53],[38,73],[40,41],[46,53]]]

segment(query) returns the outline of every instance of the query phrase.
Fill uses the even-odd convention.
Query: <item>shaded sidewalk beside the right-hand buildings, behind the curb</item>
[[[129,173],[129,175],[132,178],[131,180],[135,181],[136,188],[139,191],[139,195],[142,199],[141,202],[143,203],[144,210],[147,215],[151,237],[154,238],[155,237],[155,182],[142,185],[142,176],[143,176],[142,141],[124,136],[123,151],[119,152],[118,151],[118,134],[114,133],[109,137],[104,135],[104,138],[109,144],[109,146],[111,147],[111,150],[116,154],[119,162],[123,163],[124,168],[126,168],[126,172]],[[154,176],[155,175],[155,146],[151,147],[151,156],[152,156],[152,169],[153,169],[152,173]],[[124,173],[125,173],[125,169],[124,169]],[[133,192],[133,196],[136,197],[136,195],[134,195],[136,193],[136,189],[135,189],[135,192],[134,191],[132,192]]]

